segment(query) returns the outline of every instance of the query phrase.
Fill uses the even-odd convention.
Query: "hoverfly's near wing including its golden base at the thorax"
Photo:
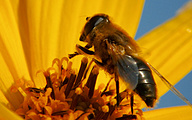
[[[119,77],[126,84],[128,89],[134,90],[138,84],[139,70],[136,61],[130,55],[126,55],[125,48],[121,45],[111,44],[106,41],[109,53]]]

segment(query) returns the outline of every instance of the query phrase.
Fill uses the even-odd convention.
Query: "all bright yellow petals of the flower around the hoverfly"
[[[43,88],[46,80],[43,80],[43,75],[36,75],[36,72],[47,69],[54,58],[63,58],[74,52],[87,16],[106,13],[134,37],[144,1],[2,0],[0,3],[0,119],[21,119],[12,110],[19,108],[26,95],[19,89],[11,92],[12,85],[33,86],[34,83],[35,87]],[[176,17],[138,41],[144,48],[143,57],[172,84],[177,83],[192,68],[191,11],[189,3]],[[80,58],[73,60],[75,69],[79,66]],[[103,75],[99,74],[98,80]],[[157,76],[155,79],[160,97],[168,88]],[[50,112],[49,107],[45,109]],[[102,109],[107,111],[108,107]],[[144,112],[144,117],[162,119],[164,115],[163,119],[174,119],[179,114],[182,119],[189,119],[192,118],[189,111],[191,109],[188,106],[174,107]],[[71,117],[70,111],[68,117]]]

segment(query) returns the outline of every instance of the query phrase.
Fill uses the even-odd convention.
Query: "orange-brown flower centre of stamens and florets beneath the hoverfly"
[[[102,81],[97,79],[99,68],[97,65],[89,68],[87,64],[88,58],[84,57],[76,73],[67,57],[54,59],[46,71],[37,71],[37,74],[43,72],[46,80],[44,88],[36,88],[34,83],[19,79],[11,90],[13,93],[22,92],[25,98],[15,112],[24,119],[36,120],[142,118],[138,105],[134,104],[134,113],[130,112],[128,90],[120,93],[120,106],[116,105],[116,88],[111,82],[113,78],[106,86],[100,82],[99,87],[95,87],[96,82]]]

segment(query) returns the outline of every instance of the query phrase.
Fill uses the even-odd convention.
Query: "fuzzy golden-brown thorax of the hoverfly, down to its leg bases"
[[[134,55],[137,54],[139,50],[135,40],[111,22],[95,27],[87,36],[86,42],[94,47],[95,57],[104,63],[104,69],[110,74],[113,74],[115,65],[106,41],[122,49],[123,54]]]

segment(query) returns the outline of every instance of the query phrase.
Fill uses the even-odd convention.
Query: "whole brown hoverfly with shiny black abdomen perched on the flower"
[[[152,65],[139,56],[136,41],[124,30],[113,24],[108,15],[97,14],[86,18],[80,41],[87,42],[85,47],[76,45],[77,52],[69,54],[69,58],[76,55],[93,55],[93,61],[109,74],[115,76],[117,105],[119,94],[119,78],[128,89],[135,91],[148,107],[154,107],[157,99],[157,88],[152,70],[161,78],[169,89],[188,105],[191,103],[173,87]],[[94,47],[94,51],[89,50]]]

